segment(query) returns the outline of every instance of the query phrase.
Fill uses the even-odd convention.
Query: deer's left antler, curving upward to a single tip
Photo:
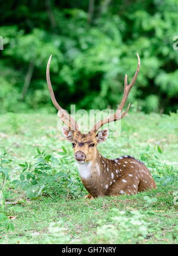
[[[71,115],[69,115],[65,110],[63,110],[63,108],[61,108],[61,106],[56,101],[56,98],[55,98],[55,95],[54,95],[54,92],[52,89],[52,85],[50,82],[50,75],[49,75],[49,67],[50,67],[51,58],[52,58],[52,55],[50,55],[50,57],[49,57],[49,61],[47,63],[47,68],[46,68],[46,80],[47,80],[47,86],[48,86],[49,92],[50,92],[50,98],[52,99],[52,102],[53,102],[55,108],[57,110],[59,110],[58,116],[61,118],[63,123],[65,123],[66,126],[68,126],[70,130],[78,130],[78,124],[74,120],[74,118],[72,118]]]

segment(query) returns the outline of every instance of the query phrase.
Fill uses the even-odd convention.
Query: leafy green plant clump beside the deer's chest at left
[[[59,152],[59,158],[40,152],[34,157],[34,163],[18,164],[22,168],[20,179],[12,181],[16,189],[19,187],[26,192],[26,196],[37,199],[42,195],[77,196],[84,191],[74,160],[68,156],[66,149]]]

